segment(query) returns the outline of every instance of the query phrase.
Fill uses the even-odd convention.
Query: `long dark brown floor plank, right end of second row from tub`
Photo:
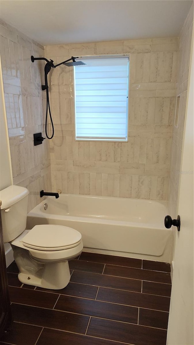
[[[170,273],[150,271],[147,269],[106,265],[103,274],[171,284]]]

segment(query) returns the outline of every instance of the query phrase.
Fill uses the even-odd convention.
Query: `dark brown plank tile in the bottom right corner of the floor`
[[[135,345],[165,345],[166,331],[164,329],[132,325],[117,321],[91,318],[87,335],[102,337],[115,341],[122,340]]]

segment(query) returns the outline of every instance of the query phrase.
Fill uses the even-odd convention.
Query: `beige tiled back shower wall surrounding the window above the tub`
[[[45,57],[54,63],[130,53],[128,142],[75,141],[73,69],[59,66],[50,73],[53,190],[167,199],[177,49],[177,38],[45,47]]]

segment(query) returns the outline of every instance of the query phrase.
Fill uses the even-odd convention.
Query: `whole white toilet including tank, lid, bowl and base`
[[[68,260],[83,250],[79,231],[62,225],[36,225],[26,229],[29,191],[9,186],[0,191],[3,242],[9,242],[21,283],[62,289],[69,283]]]

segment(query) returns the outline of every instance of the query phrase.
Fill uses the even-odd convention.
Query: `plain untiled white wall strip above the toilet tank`
[[[0,190],[13,184],[0,58]]]

